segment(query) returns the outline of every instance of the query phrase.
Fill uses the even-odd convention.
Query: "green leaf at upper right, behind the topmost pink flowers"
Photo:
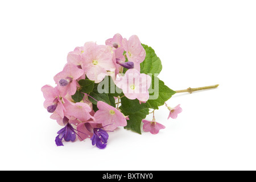
[[[160,73],[162,71],[162,63],[158,56],[156,56],[154,49],[142,44],[146,51],[145,60],[141,63],[141,73]]]

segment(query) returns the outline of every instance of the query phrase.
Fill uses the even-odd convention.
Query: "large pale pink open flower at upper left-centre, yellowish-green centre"
[[[98,83],[108,72],[115,72],[113,54],[109,46],[88,42],[84,44],[84,51],[82,53],[82,69],[90,80]]]

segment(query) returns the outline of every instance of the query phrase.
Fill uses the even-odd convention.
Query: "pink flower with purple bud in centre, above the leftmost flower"
[[[62,72],[53,78],[60,92],[65,96],[67,93],[73,95],[76,93],[76,80],[84,74],[82,69],[77,68],[75,64],[67,63]]]

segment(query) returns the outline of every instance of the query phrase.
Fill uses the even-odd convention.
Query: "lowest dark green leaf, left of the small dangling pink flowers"
[[[129,116],[129,120],[127,120],[127,125],[124,128],[141,134],[141,122],[142,119],[146,118],[146,116],[149,114],[149,110],[142,109],[140,111],[137,111],[136,113],[127,113],[125,110],[123,110],[122,106],[120,106],[119,109],[122,110],[123,114]]]

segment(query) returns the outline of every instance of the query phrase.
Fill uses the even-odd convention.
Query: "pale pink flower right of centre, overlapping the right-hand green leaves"
[[[130,100],[137,98],[141,102],[146,102],[149,98],[148,88],[151,85],[151,77],[140,73],[137,69],[129,69],[125,76],[115,80],[115,85],[122,89]]]

